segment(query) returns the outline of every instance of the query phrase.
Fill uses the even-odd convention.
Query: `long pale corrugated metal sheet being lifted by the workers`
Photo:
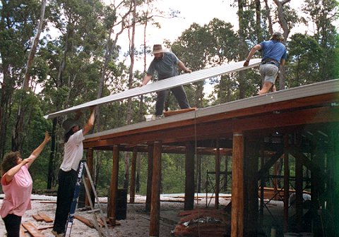
[[[130,90],[125,90],[123,92],[109,95],[107,97],[102,97],[100,99],[95,99],[93,101],[86,102],[84,104],[79,104],[69,109],[64,109],[64,110],[61,110],[61,111],[58,111],[52,114],[48,114],[44,116],[44,119],[52,119],[57,116],[69,114],[71,111],[77,111],[77,110],[85,109],[85,108],[92,107],[92,106],[99,105],[99,104],[106,104],[109,102],[119,101],[121,99],[128,99],[131,97],[136,97],[138,95],[144,95],[144,94],[148,94],[151,92],[157,92],[160,90],[177,87],[178,85],[186,85],[186,84],[194,83],[200,80],[212,78],[218,75],[224,75],[227,73],[234,73],[237,71],[242,71],[247,68],[253,68],[254,66],[258,66],[260,62],[261,62],[261,59],[251,59],[251,61],[249,62],[249,66],[247,67],[243,66],[244,61],[239,61],[236,63],[229,63],[229,64],[225,64],[222,66],[215,66],[213,68],[206,68],[203,70],[194,71],[192,73],[177,75],[172,78],[167,78],[165,80],[159,80],[155,83],[144,85],[143,87],[136,87]]]

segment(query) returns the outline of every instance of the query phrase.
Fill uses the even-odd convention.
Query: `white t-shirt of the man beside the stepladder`
[[[63,171],[78,170],[79,163],[83,158],[83,140],[85,140],[83,130],[78,130],[69,137],[69,140],[65,143],[64,160],[60,169]]]

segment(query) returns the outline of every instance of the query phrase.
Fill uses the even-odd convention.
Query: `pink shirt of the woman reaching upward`
[[[27,164],[22,166],[11,182],[6,183],[5,175],[1,177],[2,190],[5,193],[0,209],[2,218],[7,214],[16,214],[22,217],[26,209],[31,209],[30,195],[32,193],[32,177]]]

